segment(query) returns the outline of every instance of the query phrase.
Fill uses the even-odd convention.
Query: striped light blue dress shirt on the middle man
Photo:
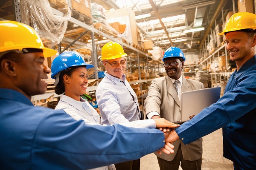
[[[131,95],[134,96],[134,100]],[[140,120],[140,108],[137,110],[139,102],[131,85],[125,79],[125,74],[120,80],[105,71],[105,77],[96,90],[96,99],[102,124],[112,125]]]

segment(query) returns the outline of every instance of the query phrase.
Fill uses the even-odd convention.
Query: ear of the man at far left
[[[3,59],[1,62],[1,71],[12,77],[17,76],[17,63],[9,59]]]

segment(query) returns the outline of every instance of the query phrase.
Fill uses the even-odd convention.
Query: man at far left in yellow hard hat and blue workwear
[[[35,107],[30,100],[45,93],[50,73],[44,57],[56,52],[30,26],[0,21],[1,170],[85,170],[159,149],[173,153],[160,130],[87,125],[63,110]]]

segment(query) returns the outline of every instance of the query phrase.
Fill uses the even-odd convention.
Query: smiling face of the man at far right
[[[256,36],[249,37],[243,31],[228,32],[225,35],[225,42],[230,59],[236,61],[238,68],[255,55]]]

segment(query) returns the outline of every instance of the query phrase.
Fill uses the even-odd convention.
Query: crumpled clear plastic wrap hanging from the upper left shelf
[[[53,14],[48,0],[22,0],[21,20],[39,34],[45,45],[59,44],[67,29],[70,8],[62,8],[64,17]],[[61,9],[59,9],[61,10]]]

